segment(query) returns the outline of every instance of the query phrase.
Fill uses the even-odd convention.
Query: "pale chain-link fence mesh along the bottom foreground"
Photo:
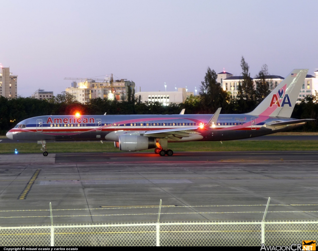
[[[0,227],[0,246],[260,246],[262,235],[265,245],[317,240],[318,221]]]

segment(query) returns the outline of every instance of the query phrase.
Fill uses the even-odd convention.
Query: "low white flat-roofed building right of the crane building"
[[[160,102],[166,106],[170,103],[179,104],[184,102],[190,95],[193,95],[193,92],[187,92],[186,88],[178,88],[178,91],[172,92],[137,92],[135,98],[138,99],[140,95],[142,102]]]

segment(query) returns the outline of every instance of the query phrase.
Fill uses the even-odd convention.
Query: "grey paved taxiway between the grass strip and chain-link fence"
[[[318,152],[0,155],[0,225],[316,220]],[[17,211],[26,210],[26,211]],[[39,211],[27,211],[39,210]],[[10,218],[9,218],[10,217]]]

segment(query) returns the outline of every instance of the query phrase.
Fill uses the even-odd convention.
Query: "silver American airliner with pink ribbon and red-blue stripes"
[[[178,115],[48,115],[25,119],[6,136],[38,140],[47,156],[46,140],[114,141],[121,151],[155,149],[172,156],[170,142],[227,141],[287,131],[314,119],[290,118],[308,69],[294,69],[252,111],[245,114]]]

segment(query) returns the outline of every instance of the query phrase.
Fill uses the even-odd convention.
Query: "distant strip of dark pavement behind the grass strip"
[[[248,139],[241,139],[241,140],[318,140],[318,135],[266,135],[260,136],[256,138],[248,138]],[[70,142],[70,141],[50,141],[47,142]],[[35,141],[31,140],[11,140],[8,138],[0,138],[1,143],[36,143]]]

